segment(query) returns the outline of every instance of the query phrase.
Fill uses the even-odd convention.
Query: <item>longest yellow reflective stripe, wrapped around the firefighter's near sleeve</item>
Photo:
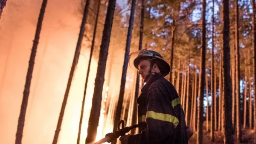
[[[175,127],[177,127],[179,123],[179,120],[173,115],[163,114],[163,113],[154,112],[154,111],[147,111],[146,118],[154,118],[161,121],[168,121],[173,123]]]

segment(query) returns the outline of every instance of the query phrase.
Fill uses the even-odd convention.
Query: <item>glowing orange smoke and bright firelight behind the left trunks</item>
[[[0,143],[13,144],[41,0],[8,0],[0,20]],[[49,0],[44,15],[23,144],[52,143],[81,24],[80,0]],[[85,45],[89,45],[88,43]],[[89,52],[81,50],[59,136],[76,142]],[[85,112],[90,112],[97,60],[92,60]],[[84,123],[88,115],[84,116]],[[84,124],[86,126],[86,124]],[[82,139],[87,128],[82,127]]]

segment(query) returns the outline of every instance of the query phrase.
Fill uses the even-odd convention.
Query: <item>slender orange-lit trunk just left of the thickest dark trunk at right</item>
[[[219,64],[220,64],[220,67],[219,67],[219,111],[218,111],[218,115],[219,115],[219,118],[218,118],[218,130],[221,130],[223,129],[223,127],[221,126],[221,121],[222,121],[222,111],[223,109],[222,108],[222,97],[223,95],[222,94],[222,91],[223,91],[223,86],[222,86],[222,53],[221,53],[221,56],[219,58]]]

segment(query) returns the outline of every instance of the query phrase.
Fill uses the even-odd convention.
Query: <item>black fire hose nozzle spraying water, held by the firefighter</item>
[[[111,143],[113,140],[119,138],[119,136],[125,135],[125,133],[129,132],[130,130],[132,130],[136,127],[139,127],[140,124],[142,124],[142,123],[134,124],[130,127],[125,127],[125,121],[121,120],[118,123],[117,131],[106,134],[105,138],[102,138],[101,140],[99,140],[93,144],[103,144],[105,142]],[[120,125],[121,125],[121,128],[120,128]]]

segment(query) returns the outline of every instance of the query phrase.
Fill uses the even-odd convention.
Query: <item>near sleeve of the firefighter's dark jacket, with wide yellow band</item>
[[[131,135],[128,144],[159,143],[171,137],[179,123],[172,102],[163,90],[152,87],[148,92],[147,103],[147,128],[137,135]]]

